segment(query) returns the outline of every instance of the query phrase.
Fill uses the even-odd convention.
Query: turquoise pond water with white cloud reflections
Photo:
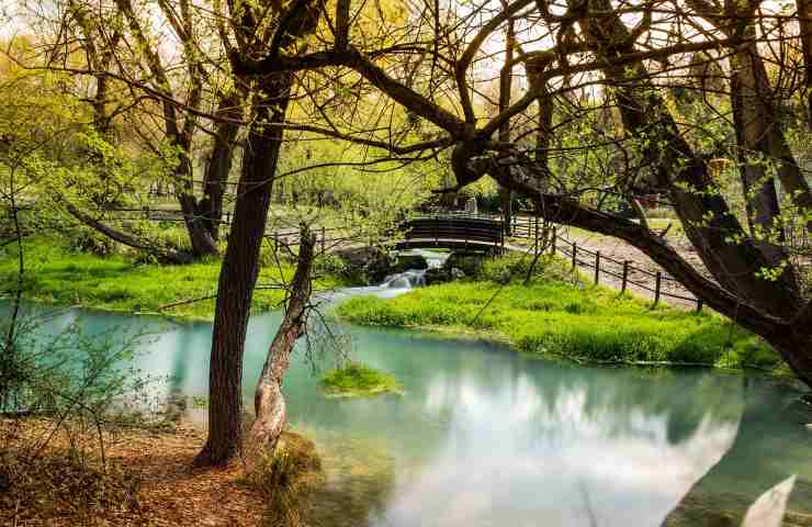
[[[253,317],[244,395],[251,401],[278,314]],[[63,310],[91,333],[128,327],[165,393],[205,397],[211,325]],[[327,525],[658,526],[691,491],[741,508],[790,473],[791,508],[812,511],[812,415],[769,378],[701,369],[590,368],[501,345],[346,326],[352,358],[397,377],[402,396],[325,396],[300,346],[284,392],[294,428],[325,456]],[[205,418],[205,408],[191,414]],[[721,461],[720,461],[721,460]],[[349,496],[349,497],[348,497]],[[350,501],[348,501],[350,500]]]

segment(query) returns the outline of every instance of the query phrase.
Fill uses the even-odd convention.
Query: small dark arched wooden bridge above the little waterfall
[[[444,248],[492,255],[505,251],[501,220],[456,215],[413,217],[402,223],[397,249]]]

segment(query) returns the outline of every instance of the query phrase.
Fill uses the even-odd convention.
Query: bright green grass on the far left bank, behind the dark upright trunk
[[[208,259],[187,266],[138,264],[123,255],[105,257],[66,249],[55,238],[36,238],[25,243],[25,298],[59,305],[160,313],[187,319],[212,319],[214,300],[204,300],[160,310],[174,302],[214,295],[217,291],[221,261]],[[10,287],[16,281],[16,249],[0,250],[0,283]],[[263,266],[258,283],[287,278],[293,265]],[[338,285],[332,278],[318,281],[317,287]],[[252,311],[275,309],[282,301],[279,290],[257,290]]]

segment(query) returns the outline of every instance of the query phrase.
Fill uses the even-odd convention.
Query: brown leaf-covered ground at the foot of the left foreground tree
[[[42,426],[26,424],[22,439],[38,437]],[[0,524],[259,525],[266,501],[241,482],[239,463],[192,468],[205,439],[200,430],[179,425],[170,431],[127,430],[106,439],[104,475],[80,466],[76,453],[66,453],[67,439],[53,440],[36,460],[12,473],[10,489],[0,492]],[[13,472],[13,464],[9,467]]]

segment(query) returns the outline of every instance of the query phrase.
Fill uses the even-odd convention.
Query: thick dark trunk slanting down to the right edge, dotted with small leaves
[[[611,13],[607,0],[591,0],[590,9]],[[618,16],[587,18],[580,22],[594,51],[611,59],[633,53],[629,30]],[[635,80],[629,81],[629,70]],[[686,235],[708,270],[729,291],[776,316],[789,319],[801,306],[794,272],[786,269],[776,282],[757,276],[772,268],[776,251],[763,250],[743,231],[725,200],[713,192],[707,164],[696,156],[683,138],[667,104],[651,89],[649,72],[642,63],[631,67],[607,67],[607,82],[614,87],[623,125],[632,137],[650,145],[644,152],[661,167],[654,177],[658,187],[668,189]],[[642,80],[641,80],[642,79]],[[654,138],[654,141],[652,141]],[[732,240],[741,240],[734,243]]]

